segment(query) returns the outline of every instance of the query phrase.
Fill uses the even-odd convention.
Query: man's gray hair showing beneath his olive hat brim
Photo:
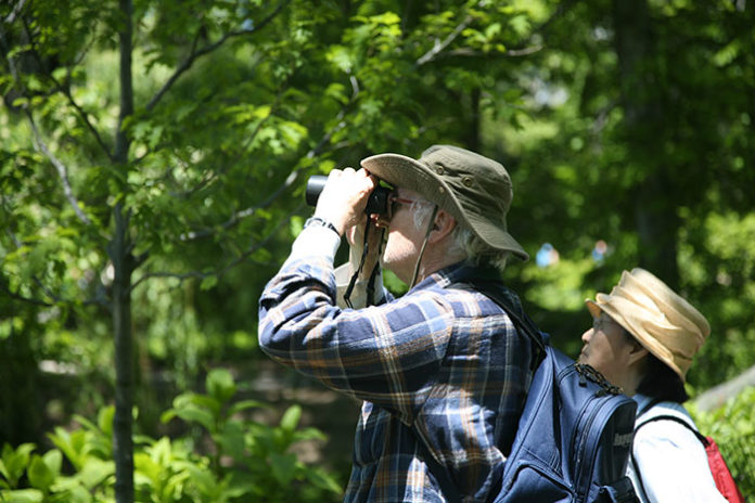
[[[425,231],[427,229],[430,217],[433,215],[432,204],[412,203],[412,217],[414,227]],[[483,242],[477,234],[471,229],[463,225],[457,220],[457,225],[451,233],[452,244],[449,249],[450,254],[464,255],[466,262],[473,266],[491,266],[500,273],[503,273],[507,261],[511,256],[511,252],[500,252]]]

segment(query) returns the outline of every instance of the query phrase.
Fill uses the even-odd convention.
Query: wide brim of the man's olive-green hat
[[[507,231],[487,219],[475,218],[463,211],[451,188],[419,160],[400,154],[378,154],[362,159],[361,166],[381,180],[417,192],[437,204],[457,220],[464,222],[488,246],[511,252],[521,260],[529,259],[522,245]]]

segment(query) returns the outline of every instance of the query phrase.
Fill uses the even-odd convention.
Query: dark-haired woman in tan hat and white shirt
[[[624,271],[611,294],[586,304],[593,324],[583,335],[579,362],[596,367],[638,403],[636,427],[642,427],[627,475],[640,500],[725,503],[705,448],[677,422],[696,430],[681,403],[689,398],[684,379],[692,357],[711,333],[705,317],[640,268]],[[660,421],[650,421],[654,417]]]

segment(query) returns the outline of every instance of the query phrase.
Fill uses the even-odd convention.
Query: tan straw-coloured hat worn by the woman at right
[[[711,335],[705,317],[644,269],[622,273],[611,294],[585,301],[594,318],[603,311],[684,382],[692,357]]]

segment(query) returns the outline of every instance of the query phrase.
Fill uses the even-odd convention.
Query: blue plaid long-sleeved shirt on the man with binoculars
[[[332,258],[290,259],[266,286],[263,350],[363,400],[345,501],[443,502],[439,477],[464,501],[495,493],[532,378],[532,347],[492,300],[447,288],[481,274],[490,280],[489,271],[453,266],[359,310],[336,306]],[[428,453],[439,462],[432,472]]]

